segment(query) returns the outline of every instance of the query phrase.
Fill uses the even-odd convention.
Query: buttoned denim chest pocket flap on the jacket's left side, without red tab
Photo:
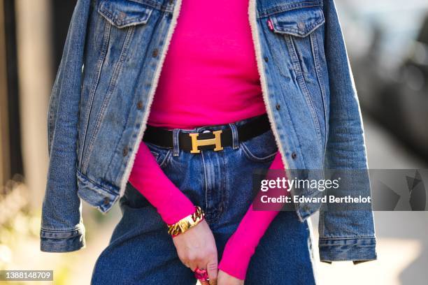
[[[117,28],[148,22],[152,8],[132,0],[101,0],[98,12]]]

